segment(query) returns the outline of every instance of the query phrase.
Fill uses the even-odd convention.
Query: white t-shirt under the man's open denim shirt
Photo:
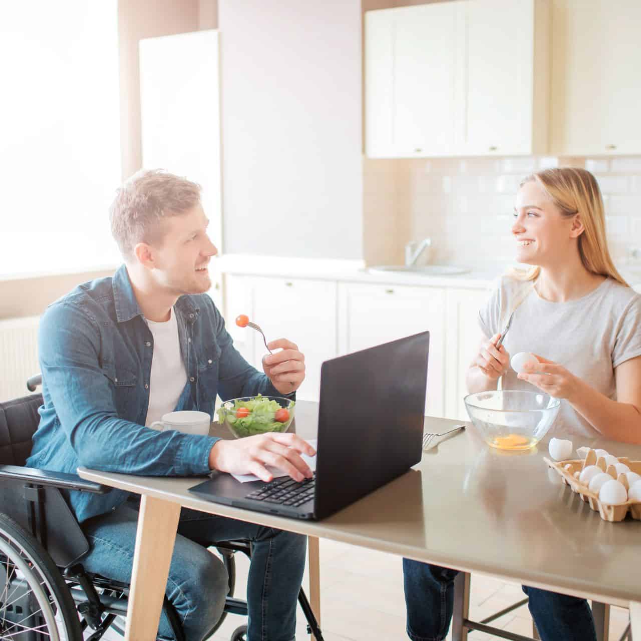
[[[154,322],[145,319],[154,337],[154,353],[149,376],[149,408],[145,425],[173,412],[187,384],[187,370],[180,353],[176,312],[171,309],[169,320]]]

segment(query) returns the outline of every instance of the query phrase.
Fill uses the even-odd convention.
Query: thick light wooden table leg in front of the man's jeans
[[[126,641],[155,641],[176,541],[178,503],[142,495],[127,609]]]

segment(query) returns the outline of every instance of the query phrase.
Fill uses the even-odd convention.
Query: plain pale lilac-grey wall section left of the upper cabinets
[[[219,0],[224,250],[363,254],[359,0]]]

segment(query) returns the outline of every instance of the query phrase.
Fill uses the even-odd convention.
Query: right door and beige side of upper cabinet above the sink
[[[548,22],[535,0],[466,4],[465,153],[547,151]]]

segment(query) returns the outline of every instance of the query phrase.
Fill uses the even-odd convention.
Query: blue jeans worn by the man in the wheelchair
[[[82,524],[91,545],[81,563],[87,572],[129,583],[138,510],[131,503]],[[249,539],[253,553],[247,583],[249,641],[291,641],[305,566],[305,537],[183,508],[169,567],[166,594],[188,641],[202,641],[222,613],[227,573],[206,549],[217,541]],[[172,637],[167,617],[159,633]]]

